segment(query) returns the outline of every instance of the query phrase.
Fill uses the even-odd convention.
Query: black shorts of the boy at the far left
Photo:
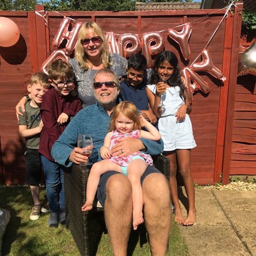
[[[42,165],[39,150],[27,149],[24,153],[24,157],[26,183],[30,186],[39,186],[42,181]]]

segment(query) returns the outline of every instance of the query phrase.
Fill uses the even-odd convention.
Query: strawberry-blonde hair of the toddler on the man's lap
[[[137,107],[130,101],[122,101],[121,103],[117,104],[113,111],[109,124],[109,130],[116,130],[116,119],[120,113],[134,122],[134,130],[141,129],[140,115]]]

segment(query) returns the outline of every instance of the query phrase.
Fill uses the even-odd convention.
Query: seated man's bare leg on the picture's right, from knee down
[[[152,255],[166,255],[171,227],[170,190],[160,173],[151,173],[142,183],[144,220]]]

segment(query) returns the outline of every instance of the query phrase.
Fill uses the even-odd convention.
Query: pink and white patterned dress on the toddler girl
[[[132,130],[132,132],[129,132],[127,134],[121,134],[121,132],[117,132],[117,130],[114,130],[111,136],[111,142],[110,142],[109,148],[112,149],[112,147],[117,144],[117,141],[116,141],[117,139],[126,138],[126,137],[138,139],[140,137],[139,130]],[[137,155],[144,158],[147,165],[153,165],[152,157],[149,154],[141,151],[137,151],[132,155],[127,155],[125,157],[119,157],[119,156],[111,157],[109,160],[112,160],[113,162],[117,163],[117,165],[126,167],[130,163],[130,161],[132,161],[132,157]]]

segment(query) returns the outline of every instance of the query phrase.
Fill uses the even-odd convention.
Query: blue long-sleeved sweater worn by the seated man
[[[77,147],[78,134],[90,134],[93,138],[93,153],[89,157],[90,162],[98,162],[101,159],[99,150],[103,146],[104,138],[109,131],[109,116],[106,110],[96,102],[91,106],[81,109],[68,124],[63,134],[52,147],[52,157],[65,167],[70,167],[70,153]],[[146,153],[158,155],[163,152],[163,141],[140,139],[147,149]]]

